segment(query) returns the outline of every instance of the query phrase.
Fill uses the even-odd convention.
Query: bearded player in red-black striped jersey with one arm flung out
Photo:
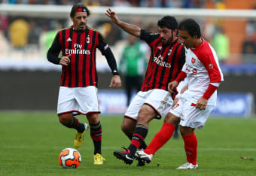
[[[114,151],[117,159],[132,164],[136,150],[145,148],[148,134],[148,123],[172,105],[177,93],[168,92],[168,83],[178,76],[184,65],[185,50],[178,42],[178,23],[175,17],[166,16],[158,21],[158,34],[152,34],[138,26],[119,20],[111,9],[106,11],[111,21],[121,29],[141,38],[151,47],[151,57],[142,83],[142,89],[132,100],[124,115],[122,130],[130,138],[130,146],[124,151]]]

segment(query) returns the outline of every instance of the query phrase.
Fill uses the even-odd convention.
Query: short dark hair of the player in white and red
[[[199,24],[191,18],[182,20],[181,23],[179,23],[178,25],[178,29],[181,31],[187,31],[192,37],[201,37],[201,30]]]

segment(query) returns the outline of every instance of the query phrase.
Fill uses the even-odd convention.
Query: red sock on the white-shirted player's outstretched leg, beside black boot
[[[160,129],[160,131],[157,132],[157,135],[154,136],[151,143],[144,150],[145,153],[148,153],[148,154],[156,153],[156,151],[159,150],[160,147],[163,146],[163,144],[166,144],[166,142],[169,141],[169,138],[172,137],[174,129],[175,129],[174,125],[169,123],[163,123],[163,126]]]

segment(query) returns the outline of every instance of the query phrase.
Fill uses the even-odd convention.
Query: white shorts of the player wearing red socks
[[[206,106],[205,110],[200,111],[192,102],[180,98],[177,105],[175,105],[169,112],[176,117],[181,118],[181,126],[201,129],[205,125],[206,120],[214,107],[215,106],[209,105]]]

